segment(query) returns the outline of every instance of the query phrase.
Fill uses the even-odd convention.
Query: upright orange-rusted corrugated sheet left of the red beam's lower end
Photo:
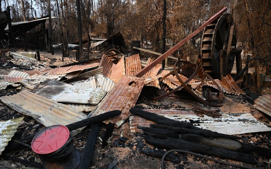
[[[126,75],[135,75],[141,70],[141,63],[139,54],[135,54],[133,56],[129,56],[125,59],[125,70]]]

